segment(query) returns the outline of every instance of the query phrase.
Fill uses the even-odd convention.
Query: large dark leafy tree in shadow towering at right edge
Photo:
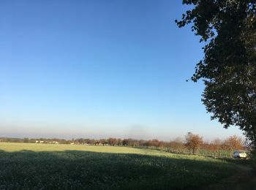
[[[203,104],[225,128],[239,126],[256,148],[256,0],[184,0],[193,8],[176,20],[192,23],[204,58],[191,79],[203,79]]]

